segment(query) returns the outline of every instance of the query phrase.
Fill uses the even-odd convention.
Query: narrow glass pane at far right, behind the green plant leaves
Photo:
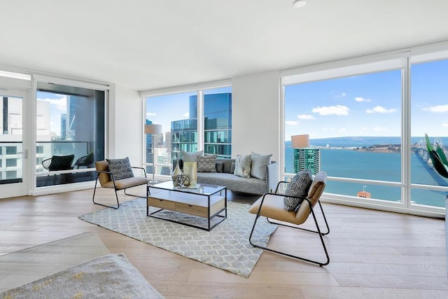
[[[411,64],[410,78],[410,204],[444,207],[448,190],[436,188],[448,186],[448,60]],[[425,134],[441,165],[428,153]]]

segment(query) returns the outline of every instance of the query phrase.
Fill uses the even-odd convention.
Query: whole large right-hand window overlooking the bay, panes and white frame
[[[285,177],[299,157],[291,136],[309,134],[335,201],[443,209],[447,178],[435,169],[425,134],[447,155],[448,62],[395,57],[282,77]]]

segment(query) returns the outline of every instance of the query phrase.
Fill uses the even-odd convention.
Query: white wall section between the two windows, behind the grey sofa
[[[252,151],[279,161],[279,72],[232,78],[232,158]]]

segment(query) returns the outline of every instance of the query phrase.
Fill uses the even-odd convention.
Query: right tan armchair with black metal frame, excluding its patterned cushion
[[[298,174],[296,176],[298,176]],[[316,176],[314,176],[314,179],[311,178],[308,188],[306,189],[307,193],[305,193],[304,197],[302,195],[292,195],[292,193],[288,193],[288,188],[286,189],[286,194],[278,193],[279,188],[281,187],[282,184],[287,183],[291,185],[293,183],[293,180],[291,180],[290,183],[286,181],[279,182],[277,184],[275,193],[265,193],[265,195],[260,197],[256,202],[252,204],[251,208],[249,209],[249,212],[257,215],[253,223],[251,235],[249,236],[249,242],[255,247],[279,253],[282,254],[283,256],[289,256],[291,258],[305,260],[309,263],[315,263],[320,266],[328,265],[328,263],[330,263],[330,258],[328,257],[328,251],[325,247],[325,243],[323,242],[323,235],[328,235],[328,233],[330,232],[330,228],[328,227],[327,219],[325,218],[325,214],[323,214],[322,205],[321,202],[319,201],[319,198],[323,193],[323,189],[325,188],[326,180],[327,180],[327,174],[325,174],[325,172],[319,172],[318,174],[316,174]],[[300,188],[300,186],[298,188]],[[288,196],[286,197],[286,195]],[[287,207],[288,204],[291,203],[290,202],[291,200],[295,201],[299,205],[295,208]],[[316,203],[318,203],[319,207],[321,208],[323,220],[325,221],[325,225],[327,226],[326,232],[321,232],[321,228],[319,228],[316,214],[314,213],[314,206],[316,205]],[[288,209],[290,210],[288,211]],[[316,230],[308,230],[297,226],[307,221],[309,215],[312,215],[314,219]],[[293,256],[292,254],[286,253],[285,251],[276,251],[274,249],[269,249],[266,246],[260,246],[258,244],[254,244],[252,240],[252,235],[255,230],[255,225],[260,216],[265,216],[267,218],[267,221],[269,221],[270,223],[287,226],[288,228],[296,228],[299,230],[306,230],[307,232],[317,233],[321,239],[321,244],[323,247],[323,251],[325,251],[326,260],[325,261],[310,260],[309,258]]]

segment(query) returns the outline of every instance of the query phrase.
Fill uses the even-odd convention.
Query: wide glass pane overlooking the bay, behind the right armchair
[[[330,181],[327,193],[401,200],[399,187],[373,182],[401,180],[401,80],[395,69],[285,86],[286,140],[309,134],[328,176],[359,179]],[[293,162],[287,142],[286,172]]]

